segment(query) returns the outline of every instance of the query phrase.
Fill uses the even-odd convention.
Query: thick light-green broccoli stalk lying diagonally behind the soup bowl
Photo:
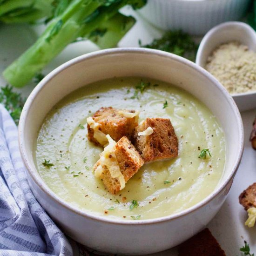
[[[79,37],[91,37],[95,41],[95,31],[104,26],[108,29],[111,22],[121,19],[121,14],[117,15],[118,10],[127,4],[139,8],[145,4],[145,0],[72,0],[67,8],[52,20],[34,45],[4,70],[3,76],[15,87],[25,86],[69,43]],[[128,17],[125,19],[129,20]],[[109,31],[102,40],[98,40],[98,44],[101,47],[113,46],[107,42],[109,35],[119,30],[119,34],[113,38],[116,43],[121,34],[131,27],[131,21],[130,18],[123,30],[120,30],[118,25],[113,27],[112,32]]]

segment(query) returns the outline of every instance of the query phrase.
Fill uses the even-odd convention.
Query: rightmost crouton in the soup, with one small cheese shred
[[[147,118],[135,128],[134,145],[145,162],[178,155],[178,139],[169,119]]]

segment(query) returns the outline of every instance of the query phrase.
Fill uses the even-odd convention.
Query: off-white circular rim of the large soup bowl
[[[106,218],[104,216],[98,216],[93,215],[92,213],[87,212],[86,210],[80,210],[76,209],[74,206],[69,205],[67,202],[65,202],[63,199],[61,199],[58,195],[56,195],[51,189],[49,189],[45,182],[40,178],[38,178],[36,175],[34,175],[32,169],[30,168],[28,161],[27,161],[27,153],[26,153],[26,141],[24,140],[24,132],[25,132],[25,123],[28,116],[28,110],[31,107],[34,98],[38,96],[42,88],[50,81],[52,80],[56,75],[61,73],[63,70],[67,69],[70,66],[73,66],[79,62],[87,61],[89,59],[101,57],[101,56],[107,56],[112,54],[152,54],[156,55],[157,57],[162,58],[171,58],[174,61],[182,62],[184,65],[187,65],[189,67],[192,67],[195,72],[201,73],[208,77],[210,81],[212,81],[216,87],[219,89],[220,93],[224,94],[226,99],[229,101],[230,107],[233,109],[233,112],[236,116],[236,120],[238,123],[237,129],[239,133],[239,145],[237,147],[238,151],[238,158],[234,162],[234,167],[232,171],[230,172],[229,176],[225,179],[222,186],[213,191],[210,195],[205,197],[202,201],[196,203],[192,207],[185,209],[181,212],[168,215],[168,216],[162,216],[158,218],[152,218],[152,219],[146,219],[146,220],[121,220],[121,219],[110,219]],[[21,158],[23,160],[23,163],[26,166],[26,171],[29,174],[29,176],[32,178],[32,180],[36,183],[36,185],[47,195],[49,196],[53,201],[55,201],[57,204],[61,205],[62,207],[66,208],[69,211],[72,211],[75,214],[78,214],[80,216],[83,216],[85,218],[93,219],[94,221],[100,221],[100,222],[107,222],[107,223],[113,223],[113,224],[119,224],[119,225],[144,225],[144,224],[157,224],[160,222],[167,222],[170,220],[174,220],[177,218],[180,218],[182,216],[188,215],[192,212],[194,212],[197,209],[202,208],[204,205],[209,203],[212,199],[214,199],[217,195],[219,195],[223,189],[226,188],[226,186],[229,184],[229,182],[233,179],[234,175],[236,174],[236,171],[238,169],[238,166],[241,162],[242,155],[243,155],[243,148],[244,148],[244,132],[243,132],[243,121],[242,117],[240,115],[240,112],[236,106],[235,101],[231,97],[231,95],[226,91],[226,89],[219,83],[219,81],[216,80],[215,77],[213,77],[211,74],[209,74],[208,71],[203,69],[202,67],[196,65],[194,62],[189,61],[185,58],[182,58],[180,56],[177,56],[175,54],[170,54],[167,52],[163,52],[160,50],[153,50],[153,49],[147,49],[147,48],[134,48],[134,47],[125,47],[125,48],[112,48],[112,49],[106,49],[106,50],[100,50],[89,54],[83,54],[81,56],[78,56],[70,61],[67,61],[66,63],[62,64],[61,66],[55,68],[52,72],[47,74],[47,76],[40,81],[40,83],[34,88],[32,93],[28,96],[27,101],[24,105],[24,108],[20,115],[20,122],[18,127],[18,136],[19,136],[19,148],[20,148],[20,154]],[[239,148],[239,149],[238,149]],[[37,171],[34,169],[34,171]]]

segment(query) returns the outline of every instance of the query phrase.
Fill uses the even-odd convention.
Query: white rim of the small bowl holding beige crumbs
[[[221,24],[219,25],[216,25],[215,27],[211,28],[205,35],[204,37],[202,38],[202,41],[200,42],[200,45],[198,47],[198,51],[196,53],[196,58],[195,58],[195,63],[200,66],[200,67],[203,67],[202,66],[202,57],[203,57],[203,54],[202,54],[202,51],[203,49],[206,47],[207,45],[207,42],[209,40],[210,37],[214,36],[214,34],[219,31],[219,30],[222,30],[222,29],[228,29],[230,26],[236,26],[237,28],[239,27],[243,27],[243,29],[246,29],[248,31],[248,33],[250,34],[253,34],[254,37],[256,38],[256,31],[251,27],[249,26],[247,23],[245,22],[242,22],[242,21],[227,21],[227,22],[222,22]],[[232,40],[232,39],[230,39]],[[217,47],[217,46],[216,46]],[[203,67],[204,68],[204,67]],[[243,97],[243,96],[248,96],[248,95],[256,95],[256,91],[249,91],[249,92],[244,92],[244,93],[233,93],[233,94],[230,94],[232,97]]]

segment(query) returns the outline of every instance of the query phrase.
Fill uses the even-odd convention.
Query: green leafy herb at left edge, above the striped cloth
[[[14,92],[12,86],[6,85],[0,88],[0,103],[5,106],[14,122],[18,125],[25,99],[19,93]]]

